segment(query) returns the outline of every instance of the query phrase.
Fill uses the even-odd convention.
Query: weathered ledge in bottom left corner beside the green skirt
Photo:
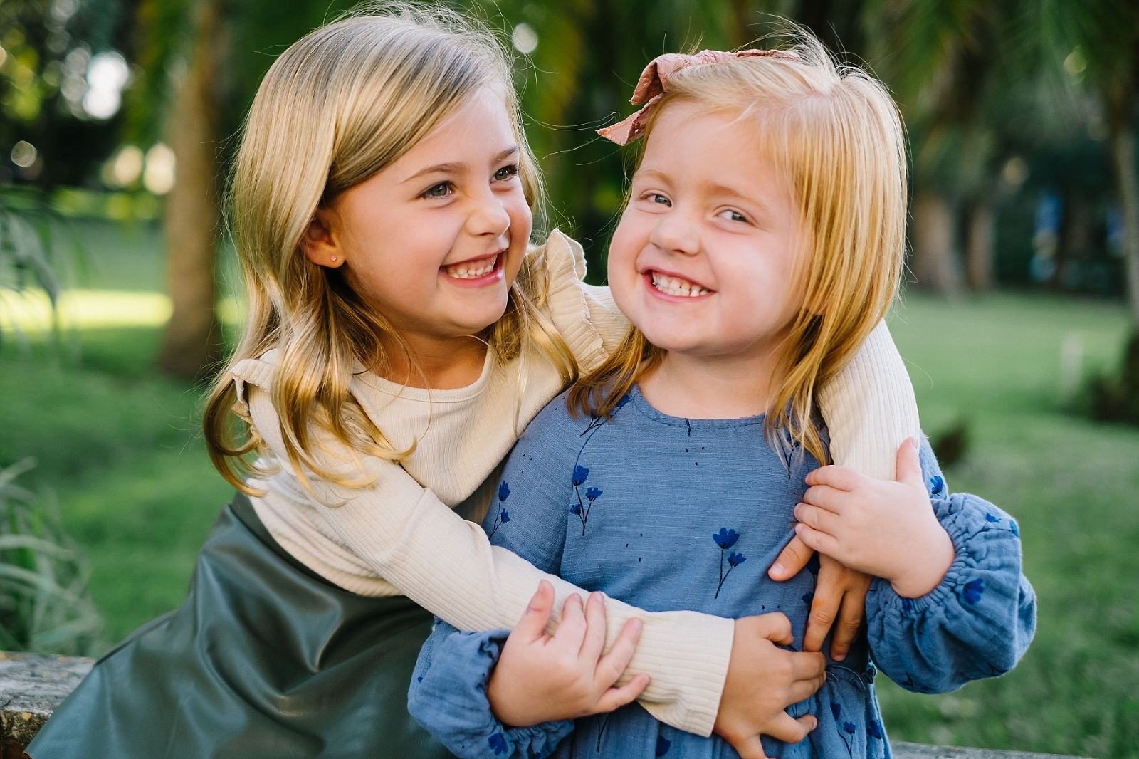
[[[0,651],[0,746],[19,757],[51,712],[91,670],[93,659]]]

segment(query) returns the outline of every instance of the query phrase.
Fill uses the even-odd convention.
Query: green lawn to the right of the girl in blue
[[[909,297],[892,329],[926,431],[961,416],[973,443],[952,490],[1022,527],[1036,638],[1009,675],[947,696],[878,679],[895,740],[1089,757],[1139,757],[1139,430],[1064,410],[1060,344],[1079,332],[1090,365],[1118,354],[1122,308],[994,296]]]

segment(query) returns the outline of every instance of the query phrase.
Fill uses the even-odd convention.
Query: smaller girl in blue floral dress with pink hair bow
[[[1035,622],[1015,522],[949,496],[928,444],[920,463],[916,441],[902,447],[898,482],[818,468],[827,433],[814,393],[882,318],[901,268],[896,111],[814,41],[663,56],[637,88],[633,101],[646,100],[608,132],[646,133],[609,250],[632,327],[531,423],[484,528],[539,569],[645,609],[786,614],[780,643],[796,648],[813,570],[786,583],[763,571],[796,532],[876,576],[866,632],[785,718],[813,715],[818,728],[802,742],[764,737],[762,753],[888,757],[871,659],[909,689],[949,691],[1008,671]],[[533,661],[565,644],[562,630],[543,635],[548,606],[539,598],[505,647],[506,631],[441,623],[412,715],[464,757],[737,756],[637,704],[505,727],[542,713]]]

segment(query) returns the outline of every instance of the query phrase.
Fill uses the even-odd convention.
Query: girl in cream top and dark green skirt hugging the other
[[[550,578],[464,517],[481,521],[519,431],[624,330],[576,244],[528,248],[538,174],[510,81],[494,39],[440,10],[346,18],[272,65],[230,194],[249,317],[204,421],[241,493],[185,605],[95,667],[35,759],[446,754],[405,708],[432,614],[511,627]],[[878,316],[822,413],[839,462],[892,476],[917,413]],[[562,609],[576,588],[550,579]],[[657,718],[743,745],[821,679],[821,655],[775,647],[762,617],[565,609],[604,643],[548,662],[588,672],[573,713],[650,677]]]

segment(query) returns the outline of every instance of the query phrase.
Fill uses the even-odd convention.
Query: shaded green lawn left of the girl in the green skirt
[[[58,495],[92,564],[99,647],[181,603],[232,495],[197,433],[198,391],[149,369],[158,338],[156,329],[83,333],[77,364],[42,344],[0,351],[0,464],[35,456],[23,481]]]

